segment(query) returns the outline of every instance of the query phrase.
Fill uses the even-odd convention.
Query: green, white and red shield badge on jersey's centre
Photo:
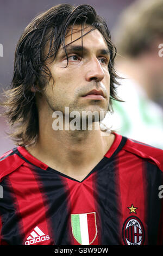
[[[91,245],[97,236],[96,212],[71,214],[72,234],[80,245]]]

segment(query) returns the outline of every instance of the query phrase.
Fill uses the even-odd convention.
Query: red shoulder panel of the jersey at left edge
[[[11,149],[0,156],[0,181],[23,163],[24,160],[17,154],[17,148]]]

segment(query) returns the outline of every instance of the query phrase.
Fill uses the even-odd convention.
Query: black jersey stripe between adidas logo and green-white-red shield
[[[51,229],[50,239],[54,241],[54,245],[71,245],[67,226],[70,221],[70,198],[67,198],[66,185],[61,176],[51,168],[43,170],[32,165],[30,168],[34,172],[42,195],[48,228]]]

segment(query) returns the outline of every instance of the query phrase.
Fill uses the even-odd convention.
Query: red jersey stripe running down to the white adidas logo
[[[22,218],[24,234],[23,245],[34,228],[38,226],[45,235],[48,235],[45,208],[42,196],[30,165],[24,163],[16,172],[10,174],[10,183],[17,198],[17,210]],[[49,241],[37,243],[48,245]]]

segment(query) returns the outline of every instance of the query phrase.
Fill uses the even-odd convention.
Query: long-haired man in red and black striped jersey
[[[99,129],[118,100],[114,58],[90,5],[53,7],[22,34],[3,103],[18,147],[0,161],[2,245],[162,243],[162,150]]]

